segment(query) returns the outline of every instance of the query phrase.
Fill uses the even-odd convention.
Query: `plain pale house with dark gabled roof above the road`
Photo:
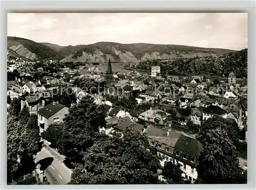
[[[58,102],[52,102],[38,111],[38,126],[46,130],[49,125],[63,122],[69,108]]]

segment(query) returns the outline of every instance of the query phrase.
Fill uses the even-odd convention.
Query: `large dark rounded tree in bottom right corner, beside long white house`
[[[199,156],[197,183],[246,183],[239,168],[234,130],[232,122],[221,117],[212,117],[203,123],[199,133],[203,150]]]

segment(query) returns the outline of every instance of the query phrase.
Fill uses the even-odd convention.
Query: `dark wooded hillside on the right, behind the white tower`
[[[228,75],[231,71],[238,77],[247,77],[247,48],[236,52],[229,52],[219,56],[208,56],[202,58],[178,59],[178,60],[156,60],[161,67],[161,72],[168,74],[207,74]],[[139,70],[149,70],[153,60],[143,61],[134,66]],[[133,67],[133,66],[130,66]]]

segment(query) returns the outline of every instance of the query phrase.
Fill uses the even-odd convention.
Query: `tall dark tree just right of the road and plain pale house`
[[[95,133],[105,127],[106,112],[103,105],[96,105],[90,96],[70,107],[63,124],[63,154],[73,167],[81,163],[83,154],[95,140]]]

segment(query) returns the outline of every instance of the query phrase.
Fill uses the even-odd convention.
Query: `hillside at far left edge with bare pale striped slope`
[[[17,55],[30,60],[63,58],[60,53],[50,47],[24,38],[8,36],[7,47],[17,53]]]

